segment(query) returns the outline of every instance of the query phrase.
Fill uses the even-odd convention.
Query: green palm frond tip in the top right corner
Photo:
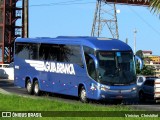
[[[160,13],[160,0],[150,0],[150,5],[149,7],[151,8],[151,11],[153,13]]]

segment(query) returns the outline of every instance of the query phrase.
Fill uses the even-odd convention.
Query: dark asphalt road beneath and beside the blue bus
[[[14,81],[7,80],[7,79],[0,79],[0,93],[4,94],[16,94],[21,96],[27,97],[37,97],[28,95],[26,89],[14,86]],[[46,97],[47,96],[47,97]],[[80,102],[76,97],[58,95],[58,94],[49,94],[43,93],[42,96],[38,98],[46,98],[46,99],[57,99],[59,101],[66,101],[66,102]],[[115,105],[112,102],[95,102],[91,101],[93,105],[105,105],[105,106],[112,106]],[[155,103],[153,101],[147,101],[145,103],[139,103],[138,101],[123,101],[122,105],[129,106],[135,108],[137,110],[147,110],[147,111],[160,111],[160,102]]]

